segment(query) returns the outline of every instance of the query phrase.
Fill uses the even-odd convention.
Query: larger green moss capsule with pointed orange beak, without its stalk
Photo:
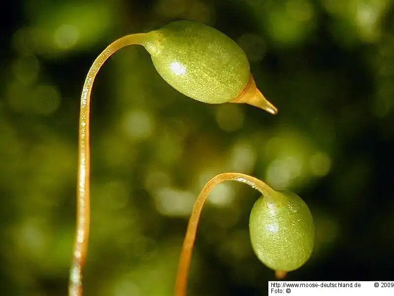
[[[277,112],[257,89],[242,49],[212,27],[172,22],[146,34],[142,45],[164,80],[190,98],[210,104],[247,103]]]

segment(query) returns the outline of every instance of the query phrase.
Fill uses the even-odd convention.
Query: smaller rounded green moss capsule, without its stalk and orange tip
[[[312,214],[291,191],[278,190],[260,197],[249,219],[252,247],[269,268],[292,271],[311,256],[315,241]]]

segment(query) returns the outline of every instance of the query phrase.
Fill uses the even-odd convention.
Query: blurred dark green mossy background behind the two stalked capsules
[[[197,20],[234,39],[279,109],[205,105],[132,46],[92,96],[92,229],[85,294],[168,296],[187,220],[215,174],[295,191],[316,223],[289,280],[393,280],[393,0],[10,1],[1,27],[0,294],[66,295],[85,75],[110,42]],[[4,21],[4,19],[3,19]],[[258,192],[227,182],[203,211],[188,295],[264,295]]]

